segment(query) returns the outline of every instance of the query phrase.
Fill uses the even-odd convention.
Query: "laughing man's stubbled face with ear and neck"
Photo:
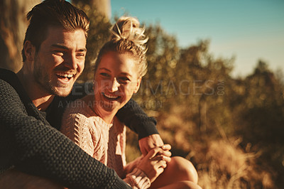
[[[23,50],[26,61],[17,75],[38,109],[45,110],[48,105],[45,102],[55,95],[70,94],[84,70],[87,49],[82,29],[67,31],[63,27],[50,27],[38,50],[28,40]]]

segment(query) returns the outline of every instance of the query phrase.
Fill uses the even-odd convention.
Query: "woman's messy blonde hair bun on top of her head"
[[[138,47],[145,49],[148,38],[144,35],[145,28],[140,27],[137,18],[129,16],[121,16],[119,20],[111,28],[110,41],[127,40],[132,41]]]

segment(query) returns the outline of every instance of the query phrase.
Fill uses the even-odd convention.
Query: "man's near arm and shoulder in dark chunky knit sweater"
[[[20,171],[50,178],[68,188],[129,188],[114,170],[50,125],[47,119],[58,124],[60,111],[66,107],[59,98],[54,101],[59,104],[50,105],[53,107],[50,109],[58,107],[51,111],[57,114],[57,121],[35,107],[13,72],[0,69],[0,173],[16,166]],[[135,126],[133,130],[139,131]]]

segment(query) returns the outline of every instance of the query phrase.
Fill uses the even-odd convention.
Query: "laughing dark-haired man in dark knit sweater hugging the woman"
[[[27,18],[23,68],[0,70],[0,173],[15,167],[68,188],[129,188],[58,131],[67,102],[83,95],[70,92],[84,69],[87,16],[67,1],[46,0]],[[163,146],[155,120],[135,102],[118,116],[138,132],[144,154]]]

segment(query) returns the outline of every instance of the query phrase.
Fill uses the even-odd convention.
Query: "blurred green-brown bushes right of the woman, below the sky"
[[[150,113],[159,112],[161,135],[165,142],[175,144],[173,153],[186,156],[190,154],[189,144],[196,141],[206,146],[218,139],[237,137],[241,139],[237,148],[260,154],[247,159],[251,163],[239,179],[246,180],[253,168],[263,171],[260,175],[268,176],[270,181],[251,176],[249,185],[282,185],[283,78],[275,77],[260,61],[252,75],[234,79],[230,76],[234,58],[214,58],[208,52],[209,41],[181,49],[175,37],[160,26],[149,26],[147,32],[148,73],[136,100]],[[179,121],[169,119],[170,114]],[[240,156],[251,157],[245,153]]]

